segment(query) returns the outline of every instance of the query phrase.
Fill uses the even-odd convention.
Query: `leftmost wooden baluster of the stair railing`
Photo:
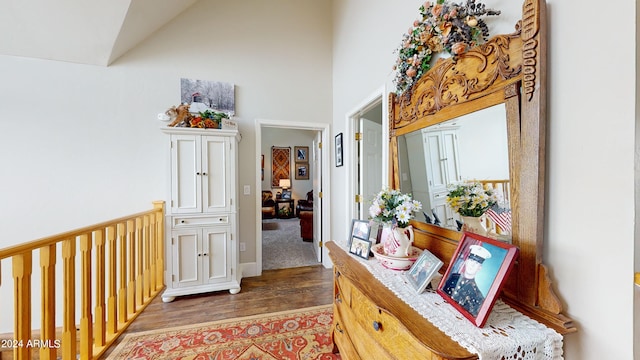
[[[13,349],[14,359],[31,359],[31,349],[27,342],[31,340],[31,251],[15,255],[11,258],[13,265],[15,303],[15,329],[14,340],[16,345]]]

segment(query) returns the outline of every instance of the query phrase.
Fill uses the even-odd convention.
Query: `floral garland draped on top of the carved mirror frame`
[[[432,54],[446,51],[456,56],[489,38],[489,28],[480,16],[500,15],[476,0],[464,4],[437,0],[420,6],[421,19],[402,37],[396,49],[394,83],[398,95],[409,89],[431,67]]]

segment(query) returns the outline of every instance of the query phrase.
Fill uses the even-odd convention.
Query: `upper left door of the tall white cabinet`
[[[171,136],[171,212],[202,212],[199,135]]]

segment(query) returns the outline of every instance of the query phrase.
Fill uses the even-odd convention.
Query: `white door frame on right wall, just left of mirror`
[[[346,123],[347,123],[347,138],[349,139],[349,149],[352,149],[350,158],[351,164],[357,164],[357,147],[355,139],[356,129],[358,127],[358,122],[360,121],[360,117],[363,113],[367,112],[367,110],[371,109],[373,106],[381,103],[382,105],[382,186],[389,185],[389,161],[384,161],[384,159],[389,159],[389,98],[385,96],[386,87],[383,85],[376,89],[374,92],[369,94],[365,99],[363,99],[355,108],[349,111],[346,114]],[[387,141],[384,141],[387,139]],[[358,207],[355,202],[355,196],[358,193],[358,189],[356,187],[356,179],[358,178],[358,169],[356,166],[352,166],[350,171],[347,172],[347,183],[349,184],[349,197],[351,200],[349,201],[348,214],[351,214],[352,218],[356,218],[358,216]],[[365,201],[365,199],[363,199]],[[366,210],[366,206],[363,206]],[[364,212],[366,213],[366,211]],[[362,219],[365,220],[365,219]],[[348,237],[347,237],[348,238]]]

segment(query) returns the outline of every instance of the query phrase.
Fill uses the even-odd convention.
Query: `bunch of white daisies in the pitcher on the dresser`
[[[403,194],[399,190],[383,189],[371,202],[369,219],[404,228],[409,225],[409,220],[413,219],[413,213],[420,209],[422,204],[413,200],[411,195]]]

